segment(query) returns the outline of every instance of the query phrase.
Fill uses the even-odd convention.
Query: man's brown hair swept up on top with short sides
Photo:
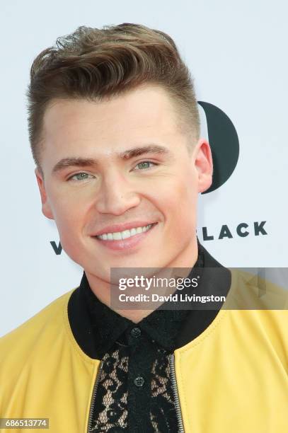
[[[109,100],[137,86],[164,88],[179,113],[179,125],[195,142],[200,119],[192,77],[172,38],[144,25],[123,23],[103,29],[81,26],[58,37],[30,69],[28,132],[40,167],[45,110],[54,99]]]

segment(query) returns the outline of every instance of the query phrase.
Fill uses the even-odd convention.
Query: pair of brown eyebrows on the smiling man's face
[[[159,144],[150,144],[149,146],[139,146],[133,149],[128,149],[120,153],[116,153],[116,156],[125,161],[134,158],[135,156],[141,156],[142,154],[170,154],[171,152],[164,146],[159,146]],[[57,173],[67,167],[91,167],[98,164],[95,158],[62,158],[53,167],[52,173]]]

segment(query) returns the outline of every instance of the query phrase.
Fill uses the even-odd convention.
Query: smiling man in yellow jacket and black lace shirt
[[[112,268],[185,269],[199,284],[183,294],[233,299],[243,284],[197,241],[212,156],[171,37],[82,27],[30,78],[42,212],[84,273],[1,339],[1,417],[49,418],[55,433],[284,432],[285,311],[112,307]]]

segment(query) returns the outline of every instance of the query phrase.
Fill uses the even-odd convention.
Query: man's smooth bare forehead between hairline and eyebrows
[[[91,102],[52,100],[43,122],[45,142],[137,139],[143,134],[175,132],[175,107],[159,87],[137,88],[121,96]],[[152,138],[152,137],[149,137]]]

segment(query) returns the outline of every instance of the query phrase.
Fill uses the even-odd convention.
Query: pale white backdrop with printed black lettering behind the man
[[[59,236],[40,212],[25,106],[33,59],[79,25],[142,23],[173,37],[195,77],[197,99],[229,116],[240,143],[231,178],[200,196],[200,241],[226,266],[288,267],[287,12],[284,0],[1,2],[0,335],[81,278],[80,267],[50,244]],[[267,235],[255,236],[255,221],[266,221]],[[243,222],[250,233],[239,237]],[[219,239],[223,224],[233,238]],[[214,240],[203,241],[203,226]]]

